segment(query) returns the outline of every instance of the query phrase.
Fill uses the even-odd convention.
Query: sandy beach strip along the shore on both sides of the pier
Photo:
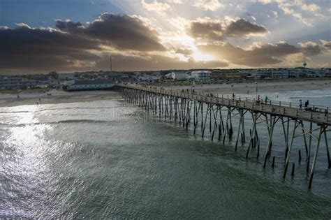
[[[331,87],[331,80],[311,80],[297,82],[258,82],[258,92],[272,91],[298,91],[311,89],[324,89]],[[190,86],[170,86],[165,89],[190,89]],[[255,83],[234,83],[234,84],[211,84],[196,85],[196,91],[213,92],[217,94],[247,94],[256,91]],[[41,98],[41,103],[74,103],[96,100],[112,100],[122,98],[118,91],[61,91],[52,90],[52,95],[47,96],[45,92],[21,92],[20,99],[16,94],[1,94],[0,107],[15,105],[36,105]]]

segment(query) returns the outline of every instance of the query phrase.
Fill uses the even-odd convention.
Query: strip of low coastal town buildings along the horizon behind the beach
[[[1,75],[0,91],[16,89],[63,89],[65,91],[109,89],[117,82],[157,84],[186,82],[216,83],[238,80],[281,80],[331,78],[331,68],[256,68],[170,71],[86,71],[75,73]],[[185,84],[184,84],[185,85]]]

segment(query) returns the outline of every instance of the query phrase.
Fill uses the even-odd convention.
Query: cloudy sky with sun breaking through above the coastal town
[[[330,67],[330,0],[0,0],[0,73]]]

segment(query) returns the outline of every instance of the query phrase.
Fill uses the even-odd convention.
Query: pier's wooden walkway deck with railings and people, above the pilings
[[[284,101],[256,101],[255,98],[230,98],[227,96],[207,96],[207,94],[193,93],[191,91],[172,90],[172,89],[159,89],[156,87],[142,87],[137,85],[124,85],[119,84],[120,87],[127,87],[131,89],[139,89],[142,91],[149,91],[156,94],[164,94],[170,96],[177,96],[179,98],[189,98],[196,101],[205,101],[207,103],[221,104],[228,107],[244,108],[247,110],[254,110],[265,112],[271,115],[282,115],[295,119],[300,119],[309,122],[316,122],[321,124],[331,124],[331,114],[328,107],[309,105],[307,110],[300,110],[297,105]]]

